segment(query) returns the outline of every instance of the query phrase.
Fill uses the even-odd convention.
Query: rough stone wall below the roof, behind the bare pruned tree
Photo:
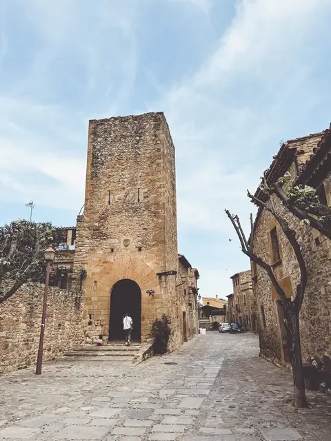
[[[294,166],[290,167],[295,176]],[[308,270],[308,284],[301,307],[301,347],[303,360],[308,356],[323,356],[331,353],[331,261],[330,249],[322,243],[315,242],[317,232],[294,218],[274,199],[280,213],[297,233],[303,257]],[[272,263],[272,247],[270,230],[276,227],[279,240],[280,259],[274,263],[274,274],[285,290],[292,296],[299,283],[299,265],[293,249],[285,238],[281,228],[268,212],[261,212],[254,228],[253,250],[268,263]],[[278,296],[272,289],[266,272],[257,266],[256,277],[253,278],[254,296],[257,300],[257,318],[259,322],[260,349],[264,356],[278,358],[285,364],[288,361],[288,348],[285,342],[285,329],[282,320],[282,308],[277,302]],[[261,309],[263,308],[263,309]],[[264,316],[264,317],[263,317]]]

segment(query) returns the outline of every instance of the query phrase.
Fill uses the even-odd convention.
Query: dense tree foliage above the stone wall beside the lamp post
[[[14,220],[0,227],[0,302],[10,298],[23,283],[44,282],[43,250],[63,241],[51,223]]]

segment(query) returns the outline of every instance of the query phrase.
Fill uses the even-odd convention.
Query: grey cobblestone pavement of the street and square
[[[136,367],[58,360],[0,388],[0,440],[331,440],[330,398],[295,411],[290,374],[252,334],[197,336]]]

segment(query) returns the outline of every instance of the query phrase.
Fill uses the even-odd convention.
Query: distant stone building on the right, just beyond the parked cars
[[[250,269],[234,274],[230,278],[232,279],[233,294],[228,296],[229,320],[238,323],[245,331],[254,331],[256,315]]]

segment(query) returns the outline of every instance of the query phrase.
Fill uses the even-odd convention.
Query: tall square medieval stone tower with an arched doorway
[[[77,220],[74,274],[86,294],[86,334],[150,337],[162,314],[172,320],[172,347],[181,342],[177,301],[177,214],[174,145],[163,113],[92,120],[86,196]],[[83,270],[83,272],[82,272]]]

